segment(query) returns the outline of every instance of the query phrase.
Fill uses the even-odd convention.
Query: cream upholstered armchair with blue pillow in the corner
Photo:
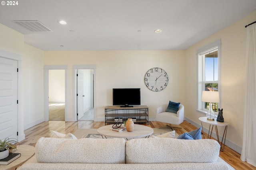
[[[180,104],[177,113],[166,112],[167,107],[168,104],[163,104],[156,109],[156,121],[169,123],[167,126],[172,129],[171,124],[179,125],[184,121],[184,106]]]

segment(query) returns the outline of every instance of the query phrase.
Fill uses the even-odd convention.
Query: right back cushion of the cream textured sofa
[[[216,162],[219,152],[213,139],[132,139],[126,142],[126,164]]]

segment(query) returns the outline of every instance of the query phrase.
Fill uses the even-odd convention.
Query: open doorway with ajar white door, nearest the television
[[[94,121],[94,70],[77,70],[77,120]]]

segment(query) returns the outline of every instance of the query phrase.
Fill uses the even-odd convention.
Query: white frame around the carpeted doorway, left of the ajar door
[[[65,121],[67,120],[68,65],[44,66],[44,121],[49,121],[49,70],[65,70]]]

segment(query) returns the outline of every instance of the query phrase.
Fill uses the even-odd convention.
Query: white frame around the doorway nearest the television
[[[74,107],[74,115],[75,121],[77,121],[77,100],[76,100],[76,92],[77,92],[77,76],[76,76],[76,70],[88,70],[91,69],[94,72],[94,83],[93,83],[93,103],[94,103],[94,115],[93,115],[93,120],[96,121],[97,116],[96,116],[96,64],[86,64],[86,65],[73,65],[73,94],[74,94],[74,100],[73,100],[73,106]]]

